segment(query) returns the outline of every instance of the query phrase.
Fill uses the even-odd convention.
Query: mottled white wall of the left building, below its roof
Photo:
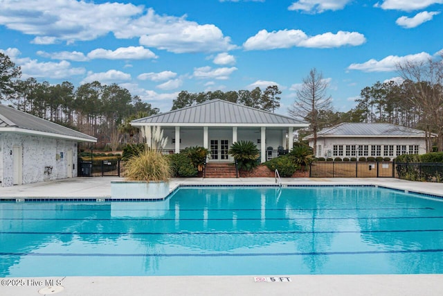
[[[21,147],[21,184],[68,177],[68,152],[72,151],[72,176],[77,177],[77,142],[28,134],[0,135],[1,186],[13,185],[13,147]],[[46,168],[46,167],[52,167]],[[46,171],[46,173],[45,173]]]

